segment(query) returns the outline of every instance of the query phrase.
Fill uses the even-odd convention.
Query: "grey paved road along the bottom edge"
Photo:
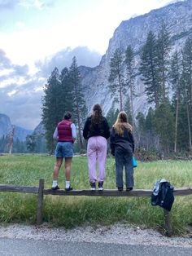
[[[192,256],[191,248],[0,238],[2,256]]]

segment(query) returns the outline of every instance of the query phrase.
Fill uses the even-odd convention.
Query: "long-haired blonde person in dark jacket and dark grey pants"
[[[123,169],[125,169],[126,191],[133,189],[133,129],[124,111],[118,114],[111,130],[111,154],[116,157],[116,187],[123,191]]]

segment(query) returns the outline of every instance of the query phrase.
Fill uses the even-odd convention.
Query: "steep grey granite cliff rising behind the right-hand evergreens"
[[[110,94],[107,87],[110,73],[109,64],[114,51],[119,47],[125,51],[127,46],[131,45],[137,53],[136,63],[138,63],[139,51],[146,42],[147,33],[152,31],[157,34],[162,20],[168,24],[172,38],[172,51],[181,49],[186,38],[192,35],[192,0],[175,2],[145,15],[121,22],[110,39],[108,49],[100,64],[95,68],[80,67],[82,85],[85,87],[86,105],[89,110],[96,103],[103,106],[105,114],[111,108],[113,95]],[[146,104],[144,85],[139,77],[136,81],[136,94],[137,98],[133,102],[135,114],[146,113],[149,105]]]

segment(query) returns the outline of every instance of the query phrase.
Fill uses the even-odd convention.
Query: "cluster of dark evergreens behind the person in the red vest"
[[[84,148],[81,130],[87,108],[83,95],[84,88],[81,85],[81,74],[73,57],[69,68],[65,67],[59,73],[55,68],[47,80],[44,88],[45,95],[42,98],[42,121],[46,130],[47,148],[50,153],[55,149],[53,134],[55,127],[63,119],[65,111],[72,112],[72,120],[77,128],[78,149]]]

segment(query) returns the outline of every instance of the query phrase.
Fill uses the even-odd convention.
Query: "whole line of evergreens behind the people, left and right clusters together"
[[[111,55],[109,69],[107,89],[114,99],[107,113],[110,126],[119,111],[124,110],[133,125],[137,148],[165,155],[192,152],[192,39],[187,38],[180,50],[174,49],[163,22],[159,33],[147,34],[139,51],[133,51],[130,45],[125,51],[117,48]],[[133,102],[137,98],[138,79],[142,80],[151,107],[146,114],[135,116]],[[55,68],[50,74],[42,98],[42,121],[49,152],[55,148],[52,136],[66,110],[74,115],[78,134],[76,148],[85,148],[81,135],[88,114],[84,90],[76,57],[69,68],[63,68],[61,73]]]

